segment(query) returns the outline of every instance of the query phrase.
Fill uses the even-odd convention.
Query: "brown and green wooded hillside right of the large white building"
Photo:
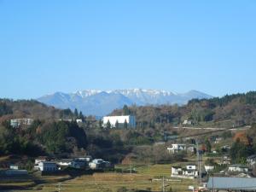
[[[114,110],[112,114],[124,114]],[[192,125],[233,126],[251,125],[256,121],[256,91],[212,99],[194,99],[187,105],[131,106],[128,113],[137,117],[138,127],[181,125],[191,120]]]

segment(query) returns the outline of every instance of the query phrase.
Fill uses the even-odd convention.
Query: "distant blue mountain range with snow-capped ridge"
[[[137,104],[161,105],[161,104],[186,104],[194,98],[211,98],[205,93],[190,90],[187,93],[178,94],[166,90],[79,90],[73,93],[55,92],[38,98],[39,102],[55,108],[78,108],[85,115],[103,116],[111,113],[113,109],[123,108],[124,105]]]

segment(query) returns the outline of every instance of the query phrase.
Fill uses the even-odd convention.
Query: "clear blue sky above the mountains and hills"
[[[256,1],[0,0],[0,97],[255,90]]]

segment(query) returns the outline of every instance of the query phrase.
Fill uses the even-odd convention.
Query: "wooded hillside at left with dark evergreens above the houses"
[[[47,107],[36,101],[0,100],[0,154],[65,155],[83,151],[85,131],[73,119],[70,109]],[[32,125],[12,127],[10,119],[33,119]]]

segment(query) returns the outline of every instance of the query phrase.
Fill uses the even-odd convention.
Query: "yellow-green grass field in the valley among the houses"
[[[137,173],[116,173],[102,172],[92,175],[81,175],[79,177],[68,178],[63,176],[65,181],[59,182],[63,177],[41,177],[37,185],[22,191],[53,192],[61,191],[76,192],[116,192],[117,189],[125,187],[127,189],[151,189],[152,191],[162,191],[162,177],[166,177],[166,191],[172,187],[172,191],[189,191],[189,185],[196,185],[196,180],[191,179],[171,179],[172,165],[135,166],[132,167]],[[118,166],[118,168],[129,169],[130,166]],[[32,181],[18,180],[15,185],[31,184]],[[4,184],[4,183],[1,183]],[[1,185],[0,185],[1,189]],[[15,190],[12,190],[15,191]]]

